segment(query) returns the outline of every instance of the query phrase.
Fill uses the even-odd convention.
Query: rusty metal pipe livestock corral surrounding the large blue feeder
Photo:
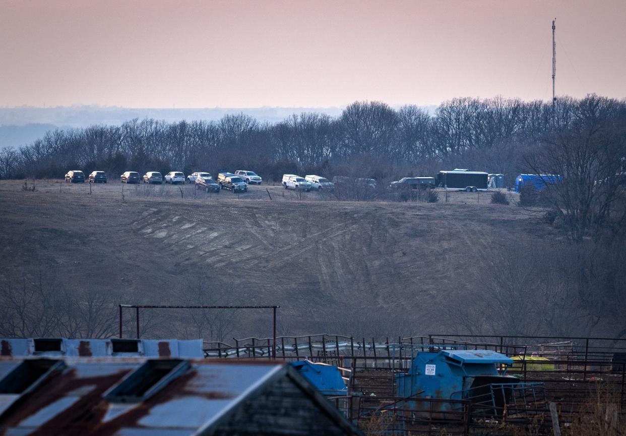
[[[537,434],[552,434],[546,405],[557,405],[562,425],[588,413],[590,398],[610,402],[626,419],[626,340],[616,338],[558,338],[554,336],[424,335],[406,338],[355,338],[345,335],[244,338],[231,343],[205,342],[208,358],[308,359],[351,370],[346,397],[337,398],[359,427],[381,435],[468,435],[470,430],[516,434],[532,425]],[[493,350],[514,360],[506,371],[524,382],[510,390],[506,410],[496,404],[467,400],[424,399],[407,402],[396,389],[396,375],[406,373],[421,351]],[[496,387],[498,388],[498,387]],[[491,387],[490,389],[493,389]],[[493,399],[494,395],[485,398]],[[466,402],[467,403],[466,403]],[[441,415],[442,403],[460,408]],[[490,418],[497,415],[498,418]],[[493,427],[493,426],[496,427]],[[517,428],[518,430],[515,430]]]

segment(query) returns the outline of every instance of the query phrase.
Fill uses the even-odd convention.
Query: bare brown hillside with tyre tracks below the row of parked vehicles
[[[487,195],[337,202],[269,187],[270,200],[262,186],[193,198],[184,186],[182,199],[170,186],[126,187],[122,197],[119,182],[91,195],[88,184],[21,184],[0,181],[4,278],[53,276],[70,289],[122,291],[130,304],[279,304],[279,333],[292,335],[437,330],[450,301],[480,288],[491,251],[557,237]],[[267,316],[238,317],[236,333],[269,333]]]

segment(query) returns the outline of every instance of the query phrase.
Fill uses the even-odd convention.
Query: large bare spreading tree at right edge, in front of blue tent
[[[562,177],[545,182],[545,197],[567,236],[580,242],[600,236],[612,221],[624,222],[624,211],[613,205],[624,195],[618,174],[626,157],[626,117],[617,101],[595,95],[578,102],[575,115],[538,143],[525,164],[533,174]]]

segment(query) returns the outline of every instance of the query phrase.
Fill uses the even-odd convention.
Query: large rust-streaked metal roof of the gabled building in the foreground
[[[4,358],[0,377],[24,360]],[[28,358],[26,361],[36,361]],[[244,400],[280,376],[295,377],[302,395],[323,408],[344,434],[360,434],[289,365],[189,360],[188,370],[140,402],[106,396],[151,361],[141,358],[59,358],[63,370],[43,375],[31,392],[0,392],[0,434],[192,435],[210,433]],[[0,387],[3,378],[0,379]],[[272,413],[272,412],[268,412]],[[285,413],[275,410],[273,413]]]

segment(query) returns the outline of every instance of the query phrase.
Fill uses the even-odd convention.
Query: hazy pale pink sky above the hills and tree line
[[[626,1],[0,0],[0,106],[626,97]]]

